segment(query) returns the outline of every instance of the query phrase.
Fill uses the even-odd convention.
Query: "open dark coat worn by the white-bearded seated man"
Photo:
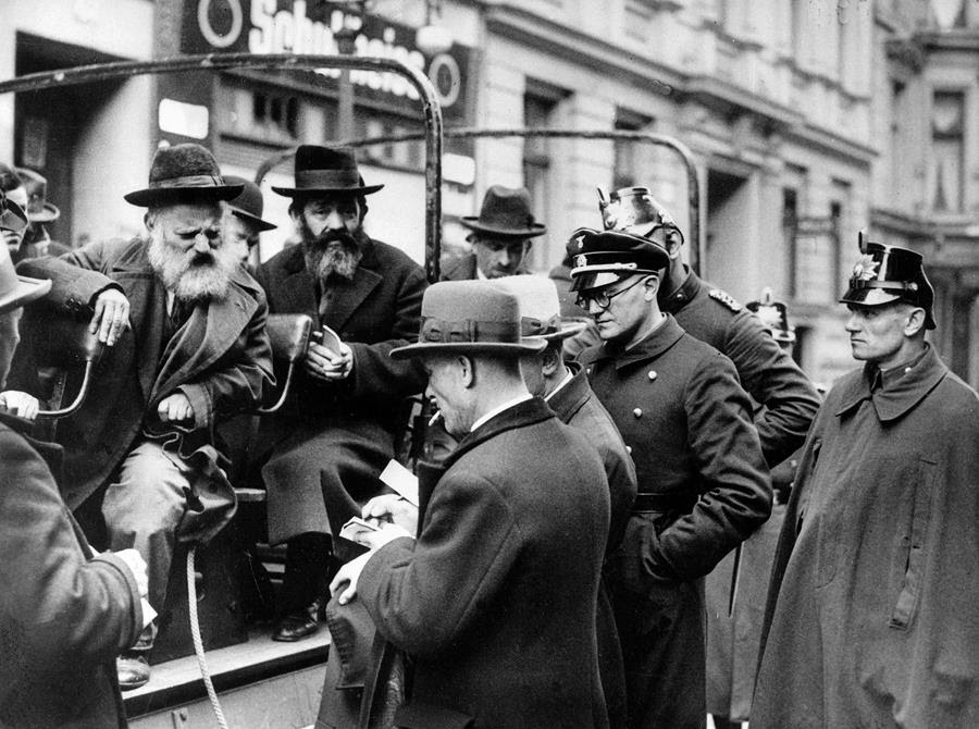
[[[129,301],[132,326],[107,348],[92,394],[78,412],[58,423],[58,441],[65,446],[64,498],[72,509],[108,482],[145,425],[158,435],[168,430],[176,434],[181,454],[211,474],[212,485],[223,480],[215,468],[215,423],[259,407],[273,383],[265,296],[255,280],[236,269],[227,295],[195,306],[168,338],[166,289],[146,249],[140,238],[92,243],[60,259],[18,265],[24,275],[50,279],[47,301],[67,314],[90,318],[95,297],[111,287],[122,289]],[[190,433],[154,422],[157,404],[176,392],[194,407]]]

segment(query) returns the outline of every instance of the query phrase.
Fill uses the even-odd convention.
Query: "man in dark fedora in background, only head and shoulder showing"
[[[547,233],[534,220],[530,193],[525,187],[493,185],[483,197],[479,217],[464,215],[459,221],[472,231],[466,238],[472,251],[447,262],[443,281],[499,279],[526,273],[526,255],[532,239]]]

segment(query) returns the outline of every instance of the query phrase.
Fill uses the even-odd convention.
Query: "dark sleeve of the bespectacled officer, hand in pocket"
[[[721,354],[704,360],[684,393],[699,498],[659,534],[649,571],[671,579],[703,577],[768,519],[771,482],[749,403]],[[658,553],[658,554],[657,554]],[[658,563],[658,564],[657,564]]]

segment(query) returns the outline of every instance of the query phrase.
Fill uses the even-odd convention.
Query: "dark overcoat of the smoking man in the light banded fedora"
[[[534,398],[467,435],[446,467],[418,540],[383,546],[358,581],[377,631],[413,659],[396,726],[607,726],[595,449]]]

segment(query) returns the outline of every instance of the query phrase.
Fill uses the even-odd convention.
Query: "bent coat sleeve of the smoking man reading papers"
[[[493,483],[451,473],[435,489],[421,534],[389,542],[358,581],[377,630],[414,656],[435,656],[492,609],[518,559],[515,515]]]

